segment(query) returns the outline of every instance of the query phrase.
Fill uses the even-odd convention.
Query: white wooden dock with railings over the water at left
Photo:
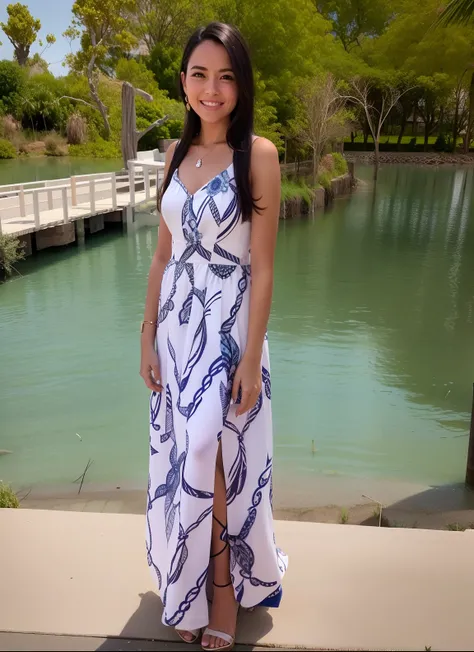
[[[43,249],[101,230],[104,220],[133,222],[135,208],[156,199],[163,169],[161,161],[136,160],[128,171],[0,186],[0,232],[30,253],[32,237]]]

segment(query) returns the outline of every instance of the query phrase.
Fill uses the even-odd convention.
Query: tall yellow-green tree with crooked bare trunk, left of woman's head
[[[111,128],[108,109],[99,95],[100,64],[112,48],[120,46],[127,52],[134,45],[135,39],[127,29],[127,16],[134,4],[134,0],[76,0],[72,6],[72,25],[65,32],[71,40],[81,37],[81,50],[68,55],[67,62],[73,71],[86,75],[107,139]]]

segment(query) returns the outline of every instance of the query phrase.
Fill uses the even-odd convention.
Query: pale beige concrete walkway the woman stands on
[[[143,516],[7,509],[0,532],[0,631],[177,641]],[[473,531],[285,521],[276,535],[290,556],[282,606],[243,613],[240,644],[474,649]]]

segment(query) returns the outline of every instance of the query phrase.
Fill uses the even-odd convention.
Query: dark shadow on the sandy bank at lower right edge
[[[398,514],[426,515],[474,510],[474,490],[463,483],[431,487],[383,508],[382,526],[389,526],[391,517]],[[371,516],[361,525],[378,525],[378,517]]]

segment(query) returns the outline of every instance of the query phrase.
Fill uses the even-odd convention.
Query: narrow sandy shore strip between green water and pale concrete
[[[421,529],[474,528],[474,490],[462,484],[429,487],[367,479],[318,478],[309,487],[276,485],[274,517],[283,521],[382,525]],[[285,490],[286,489],[286,490]],[[85,485],[22,488],[23,509],[144,514],[146,489]],[[380,502],[379,502],[380,501]]]

